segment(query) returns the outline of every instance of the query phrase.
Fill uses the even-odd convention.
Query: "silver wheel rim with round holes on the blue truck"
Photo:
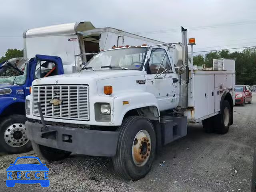
[[[8,126],[4,132],[5,142],[12,147],[21,147],[26,145],[28,138],[26,135],[25,125],[14,123]]]

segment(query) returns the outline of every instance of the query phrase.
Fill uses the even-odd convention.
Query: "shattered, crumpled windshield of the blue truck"
[[[7,61],[0,66],[0,84],[23,85],[26,82],[27,59]]]

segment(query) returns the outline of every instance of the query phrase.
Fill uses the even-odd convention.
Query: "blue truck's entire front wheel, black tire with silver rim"
[[[32,149],[26,135],[26,116],[10,115],[0,123],[0,147],[10,154],[24,153]]]

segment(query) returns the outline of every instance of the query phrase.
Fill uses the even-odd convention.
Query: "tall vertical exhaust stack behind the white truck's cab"
[[[186,108],[188,106],[188,46],[187,30],[181,27],[182,45],[183,45],[183,62],[184,66],[180,70],[180,101],[179,106]],[[182,73],[183,72],[183,73]]]

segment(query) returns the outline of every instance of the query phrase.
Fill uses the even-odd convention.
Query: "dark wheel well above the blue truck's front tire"
[[[16,102],[10,104],[7,108],[4,109],[1,116],[9,116],[9,115],[25,115],[25,103]]]

